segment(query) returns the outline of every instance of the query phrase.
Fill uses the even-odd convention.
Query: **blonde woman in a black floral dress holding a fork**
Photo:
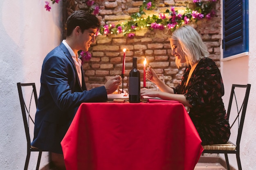
[[[198,130],[202,145],[225,144],[230,136],[230,127],[221,98],[224,86],[218,66],[208,58],[206,45],[191,26],[175,30],[170,43],[177,67],[186,65],[180,84],[176,88],[168,87],[149,67],[146,78],[161,91],[143,88],[141,96],[176,100],[189,106],[189,116]]]

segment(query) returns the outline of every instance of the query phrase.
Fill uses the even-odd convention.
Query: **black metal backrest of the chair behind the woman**
[[[232,89],[230,93],[229,106],[227,109],[227,118],[229,119],[230,128],[232,127],[238,128],[237,137],[236,137],[237,149],[239,149],[239,146],[240,146],[240,140],[241,140],[243,125],[245,121],[245,113],[246,113],[250,88],[251,88],[251,84],[247,84],[247,85],[232,84]],[[239,96],[243,93],[244,96],[242,95],[241,97],[237,97],[236,93],[237,95],[239,94]],[[242,101],[242,103],[239,104],[239,101]],[[234,115],[230,116],[231,112],[232,114],[234,113]],[[231,117],[232,117],[232,120],[231,120]],[[232,135],[232,132],[231,132],[231,135]]]

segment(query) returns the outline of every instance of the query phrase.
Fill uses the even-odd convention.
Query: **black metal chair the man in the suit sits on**
[[[27,102],[28,100],[24,100],[25,93],[24,93],[24,95],[22,93],[22,89],[23,89],[22,87],[25,88],[25,86],[27,88],[30,87],[30,90],[32,89],[32,91],[29,93],[29,94],[31,94],[31,96],[29,96],[30,97],[29,102]],[[24,123],[24,127],[25,127],[26,138],[27,138],[27,157],[26,157],[24,170],[28,169],[31,152],[39,152],[38,160],[37,160],[37,164],[36,164],[36,170],[38,170],[39,166],[40,166],[42,152],[45,150],[41,150],[38,148],[31,148],[31,139],[30,139],[30,134],[29,134],[29,122],[32,122],[33,124],[35,124],[34,118],[32,118],[30,115],[30,108],[31,108],[31,104],[32,104],[31,102],[35,102],[35,107],[37,107],[37,104],[38,104],[36,85],[35,85],[35,83],[17,83],[17,87],[18,87],[18,93],[19,93],[19,97],[20,97],[20,106],[21,106],[21,111],[22,111],[23,123]],[[33,97],[33,95],[34,95],[34,97]],[[26,103],[29,105],[26,105]],[[34,106],[34,104],[32,104],[32,105]]]

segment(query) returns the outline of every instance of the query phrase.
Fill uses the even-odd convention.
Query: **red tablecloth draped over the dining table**
[[[67,170],[193,170],[203,150],[179,103],[83,103],[61,145]]]

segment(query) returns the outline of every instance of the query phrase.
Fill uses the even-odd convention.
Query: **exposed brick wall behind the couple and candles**
[[[118,24],[130,20],[132,13],[138,12],[142,0],[96,0],[100,5],[99,20],[102,24]],[[147,14],[158,15],[170,9],[186,9],[186,5],[191,7],[193,0],[158,0],[157,9],[145,11]],[[63,1],[63,20],[70,15],[73,10],[83,9],[85,0]],[[66,10],[65,10],[66,9]],[[65,12],[65,13],[64,13]],[[201,35],[207,44],[210,58],[220,66],[220,42],[221,42],[221,15],[220,0],[216,3],[217,16],[211,20],[200,20],[192,25]],[[65,30],[65,29],[64,29]],[[97,42],[91,46],[89,51],[92,53],[90,62],[83,64],[85,70],[85,80],[88,89],[102,86],[106,80],[113,75],[121,75],[123,49],[126,52],[126,66],[124,89],[128,88],[128,75],[132,69],[132,57],[138,59],[138,69],[141,72],[141,87],[143,86],[143,61],[146,57],[146,66],[152,66],[157,73],[163,73],[165,82],[169,86],[177,86],[183,75],[184,68],[178,69],[175,65],[175,57],[171,55],[169,37],[171,32],[165,30],[140,30],[136,32],[135,38],[129,39],[122,34],[119,35],[99,35]],[[148,86],[149,82],[146,82]],[[152,83],[151,83],[152,85]]]

